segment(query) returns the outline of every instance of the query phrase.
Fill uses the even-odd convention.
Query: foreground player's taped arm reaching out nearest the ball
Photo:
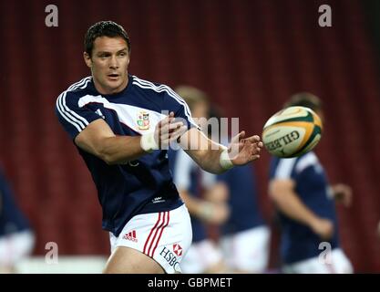
[[[226,148],[191,128],[180,137],[180,146],[206,172],[221,173],[234,165],[244,165],[260,158],[262,141],[259,136],[244,139],[245,132],[235,136]]]

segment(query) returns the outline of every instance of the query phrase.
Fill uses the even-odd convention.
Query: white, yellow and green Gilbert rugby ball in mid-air
[[[322,121],[313,110],[289,107],[267,120],[262,129],[262,142],[274,156],[297,157],[318,144],[322,130]]]

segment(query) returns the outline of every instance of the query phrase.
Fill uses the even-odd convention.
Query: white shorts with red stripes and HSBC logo
[[[136,215],[118,237],[109,233],[109,240],[111,253],[128,246],[153,258],[166,273],[181,273],[180,263],[192,240],[188,209],[182,204],[171,211]]]

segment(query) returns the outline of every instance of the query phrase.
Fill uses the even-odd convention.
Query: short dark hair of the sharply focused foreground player
[[[88,28],[85,35],[85,52],[91,57],[94,42],[99,36],[122,37],[127,42],[128,52],[130,53],[130,40],[123,26],[113,21],[99,21],[95,25]]]

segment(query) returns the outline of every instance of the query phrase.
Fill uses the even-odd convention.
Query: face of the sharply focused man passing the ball
[[[92,56],[83,57],[91,68],[96,89],[101,94],[118,93],[128,84],[129,53],[122,37],[100,36],[94,41]]]

